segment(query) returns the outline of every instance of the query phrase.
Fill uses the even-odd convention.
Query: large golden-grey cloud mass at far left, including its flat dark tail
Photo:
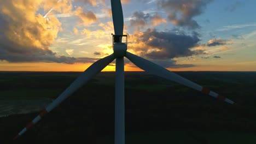
[[[38,9],[44,7],[42,4],[42,1],[34,0],[15,3],[0,1],[0,60],[56,63],[75,63],[81,59],[83,62],[95,61],[91,58],[57,56],[50,50],[50,45],[61,31],[61,23],[55,17],[44,19],[37,14]]]

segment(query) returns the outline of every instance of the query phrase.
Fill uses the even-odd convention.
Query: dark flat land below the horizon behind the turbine
[[[2,141],[10,142],[79,74],[0,72]],[[220,103],[160,77],[126,72],[126,143],[256,143],[256,73],[177,74],[211,88],[240,106]],[[98,74],[17,142],[113,143],[114,77],[113,72]],[[24,114],[16,115],[19,113]]]

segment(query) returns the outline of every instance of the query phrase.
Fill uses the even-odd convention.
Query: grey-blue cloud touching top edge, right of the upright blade
[[[200,28],[193,19],[203,13],[211,0],[160,0],[159,7],[165,9],[168,19],[176,26],[185,26],[189,29]]]

